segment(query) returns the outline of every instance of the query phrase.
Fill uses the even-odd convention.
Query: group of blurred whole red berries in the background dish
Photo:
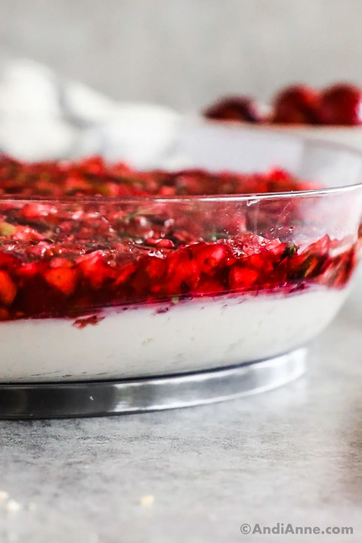
[[[343,83],[322,91],[293,85],[276,94],[270,110],[251,97],[236,96],[219,100],[204,115],[220,121],[357,126],[362,124],[362,91]]]

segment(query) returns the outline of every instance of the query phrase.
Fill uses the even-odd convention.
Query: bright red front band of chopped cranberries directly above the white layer
[[[0,251],[0,319],[78,317],[96,308],[175,296],[287,294],[312,284],[340,288],[357,260],[356,244],[332,256],[328,236],[304,250],[251,233],[156,251],[79,247],[78,256],[67,248],[62,256],[61,245],[32,247],[39,245],[33,261],[16,250]]]

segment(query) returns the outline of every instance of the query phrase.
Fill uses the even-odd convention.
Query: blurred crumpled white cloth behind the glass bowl
[[[185,167],[175,150],[181,120],[163,106],[117,103],[31,60],[0,70],[0,149],[20,160],[99,153],[138,168]]]

